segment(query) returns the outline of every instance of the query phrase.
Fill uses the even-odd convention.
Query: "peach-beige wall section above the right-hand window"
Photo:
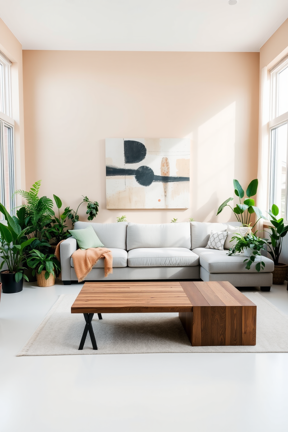
[[[260,70],[268,66],[271,69],[288,54],[288,19],[260,48]]]

